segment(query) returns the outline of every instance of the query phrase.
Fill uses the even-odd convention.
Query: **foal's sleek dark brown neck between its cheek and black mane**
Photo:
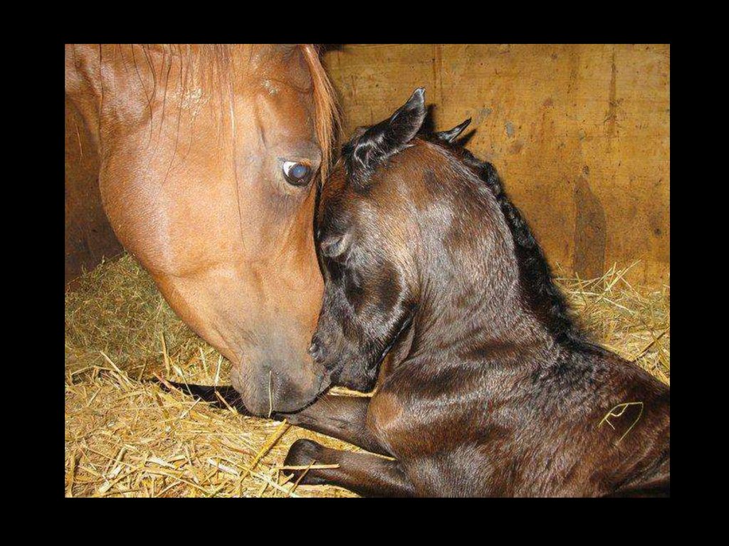
[[[414,351],[550,347],[547,328],[523,297],[515,241],[491,190],[451,159],[434,203],[448,203],[450,222],[421,223],[421,294],[413,321]],[[453,176],[457,175],[457,176]],[[445,178],[445,180],[443,179]],[[426,183],[428,183],[426,181]]]

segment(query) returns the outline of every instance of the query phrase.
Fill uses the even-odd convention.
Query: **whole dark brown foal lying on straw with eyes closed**
[[[360,130],[324,184],[324,303],[310,353],[333,384],[293,423],[393,459],[299,440],[302,483],[364,495],[668,495],[669,390],[590,343],[491,165],[416,136],[416,90]]]

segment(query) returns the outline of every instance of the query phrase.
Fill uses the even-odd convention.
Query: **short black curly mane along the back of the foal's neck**
[[[564,294],[554,282],[552,269],[542,247],[534,238],[529,224],[522,217],[519,209],[504,191],[504,186],[494,165],[478,160],[462,146],[448,144],[437,137],[429,138],[429,140],[448,147],[486,184],[496,198],[514,240],[523,297],[531,311],[537,314],[558,342],[581,348],[602,350],[590,343],[585,333],[576,324]]]

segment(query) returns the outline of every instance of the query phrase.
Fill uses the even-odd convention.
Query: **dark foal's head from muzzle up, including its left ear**
[[[324,303],[310,348],[332,383],[373,387],[378,364],[408,328],[418,300],[408,161],[390,160],[425,115],[422,90],[345,147],[324,184],[317,243]],[[389,161],[391,168],[377,170]]]

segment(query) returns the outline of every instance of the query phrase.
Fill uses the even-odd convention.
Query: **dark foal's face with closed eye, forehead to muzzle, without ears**
[[[378,364],[414,308],[414,268],[407,251],[407,222],[386,203],[383,184],[362,193],[341,162],[321,195],[319,255],[324,303],[311,355],[332,383],[372,389]]]

